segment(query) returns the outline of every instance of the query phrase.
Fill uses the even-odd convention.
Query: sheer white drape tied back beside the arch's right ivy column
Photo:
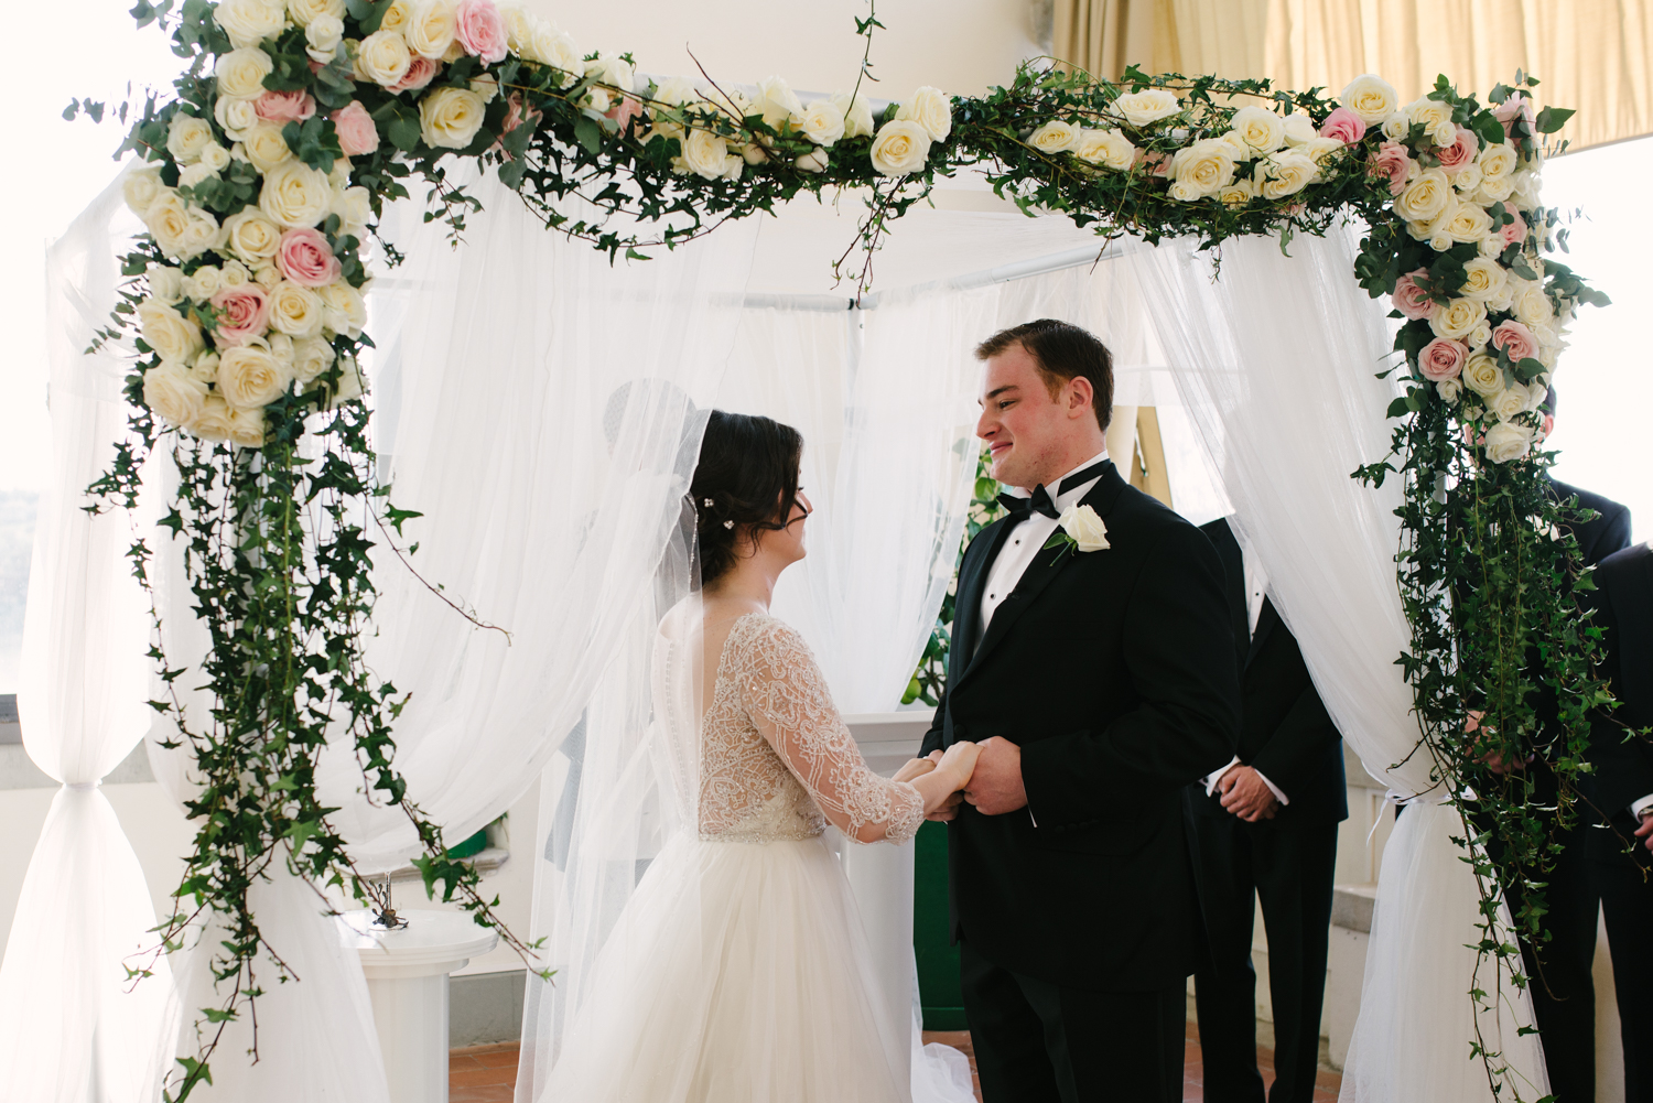
[[[1410,643],[1393,574],[1400,485],[1370,489],[1349,478],[1389,451],[1384,412],[1395,390],[1377,379],[1392,344],[1385,311],[1351,278],[1352,240],[1342,232],[1298,238],[1291,256],[1266,238],[1228,241],[1220,276],[1185,241],[1131,263],[1235,524],[1268,571],[1270,595],[1327,711],[1374,777],[1402,799],[1422,797],[1415,822],[1403,817],[1384,852],[1370,984],[1342,1098],[1486,1098],[1486,1072],[1470,1050],[1476,956],[1465,943],[1478,918],[1474,883],[1395,666]],[[1532,1024],[1531,999],[1488,972],[1479,982],[1493,1009],[1479,1029],[1526,1095],[1546,1083],[1537,1035],[1517,1035]],[[1440,999],[1417,999],[1423,994]]]

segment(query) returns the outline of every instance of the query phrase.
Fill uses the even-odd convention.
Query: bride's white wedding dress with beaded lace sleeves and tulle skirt
[[[846,835],[904,842],[922,797],[868,769],[808,647],[767,615],[729,632],[698,739],[669,738],[693,724],[684,686],[698,681],[681,676],[691,655],[671,623],[655,716],[671,774],[696,779],[698,832],[669,840],[638,883],[541,1098],[904,1103],[912,1027],[873,997],[823,809]],[[967,1072],[939,1096],[972,1098]]]

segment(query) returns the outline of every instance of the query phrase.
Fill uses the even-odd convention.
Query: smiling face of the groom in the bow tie
[[[987,361],[980,402],[975,435],[987,442],[993,478],[1027,489],[1048,481],[1050,468],[1061,463],[1071,418],[1065,405],[1050,397],[1027,349],[1013,344]]]

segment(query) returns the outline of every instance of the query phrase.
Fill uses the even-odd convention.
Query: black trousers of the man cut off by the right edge
[[[1635,860],[1592,857],[1590,883],[1607,918],[1607,949],[1613,956],[1613,994],[1618,999],[1625,1045],[1625,1103],[1653,1103],[1653,857],[1636,840]]]

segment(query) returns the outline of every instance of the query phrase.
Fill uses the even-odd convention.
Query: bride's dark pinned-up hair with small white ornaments
[[[798,499],[803,437],[790,425],[712,410],[689,498],[696,513],[701,585],[734,569],[741,529],[787,528]]]

